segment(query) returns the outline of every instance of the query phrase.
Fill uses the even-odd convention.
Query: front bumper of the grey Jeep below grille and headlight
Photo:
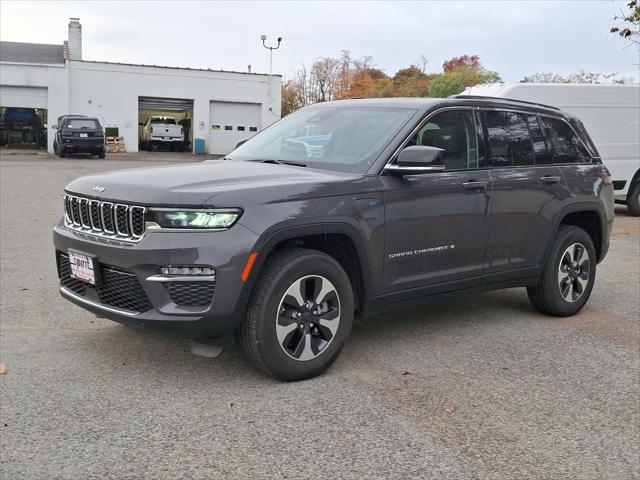
[[[210,338],[232,333],[244,316],[240,299],[246,295],[242,296],[240,277],[256,240],[240,224],[224,232],[147,233],[136,243],[71,230],[63,222],[53,232],[64,298],[120,323]],[[61,261],[69,249],[94,258],[98,285],[86,286],[66,276]],[[188,282],[159,279],[159,269],[166,265],[212,266],[215,282],[209,278],[205,285],[197,276]],[[188,285],[196,289],[185,294]],[[172,287],[178,287],[178,293]]]

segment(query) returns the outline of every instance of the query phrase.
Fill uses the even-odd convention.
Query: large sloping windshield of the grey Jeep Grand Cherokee
[[[406,108],[305,108],[248,140],[227,158],[351,172],[356,165],[370,165],[415,112]]]

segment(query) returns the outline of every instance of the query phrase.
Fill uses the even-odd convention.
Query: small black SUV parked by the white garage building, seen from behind
[[[104,158],[104,130],[97,118],[63,115],[58,117],[58,123],[54,128],[57,131],[53,151],[60,158],[73,153],[89,153]]]

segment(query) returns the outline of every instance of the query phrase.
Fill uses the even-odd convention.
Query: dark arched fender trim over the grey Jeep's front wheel
[[[329,222],[329,223],[306,223],[302,225],[292,226],[276,226],[264,232],[256,241],[256,244],[252,252],[256,252],[255,263],[251,270],[251,275],[247,279],[238,303],[241,304],[242,310],[246,309],[246,305],[249,303],[249,298],[253,292],[253,288],[260,277],[262,268],[269,257],[269,254],[273,251],[274,247],[282,241],[290,240],[307,235],[322,235],[322,234],[344,234],[347,235],[353,244],[355,245],[356,254],[358,255],[358,261],[360,263],[360,269],[362,272],[363,282],[363,304],[371,296],[371,265],[372,254],[368,247],[368,242],[363,238],[362,234],[352,225],[346,222]]]

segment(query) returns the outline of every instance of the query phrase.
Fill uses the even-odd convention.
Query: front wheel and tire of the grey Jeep
[[[319,304],[313,301],[316,295]],[[301,305],[301,300],[308,303]],[[351,282],[333,257],[303,248],[285,250],[267,260],[236,340],[261,372],[303,380],[320,375],[338,357],[353,311]]]

